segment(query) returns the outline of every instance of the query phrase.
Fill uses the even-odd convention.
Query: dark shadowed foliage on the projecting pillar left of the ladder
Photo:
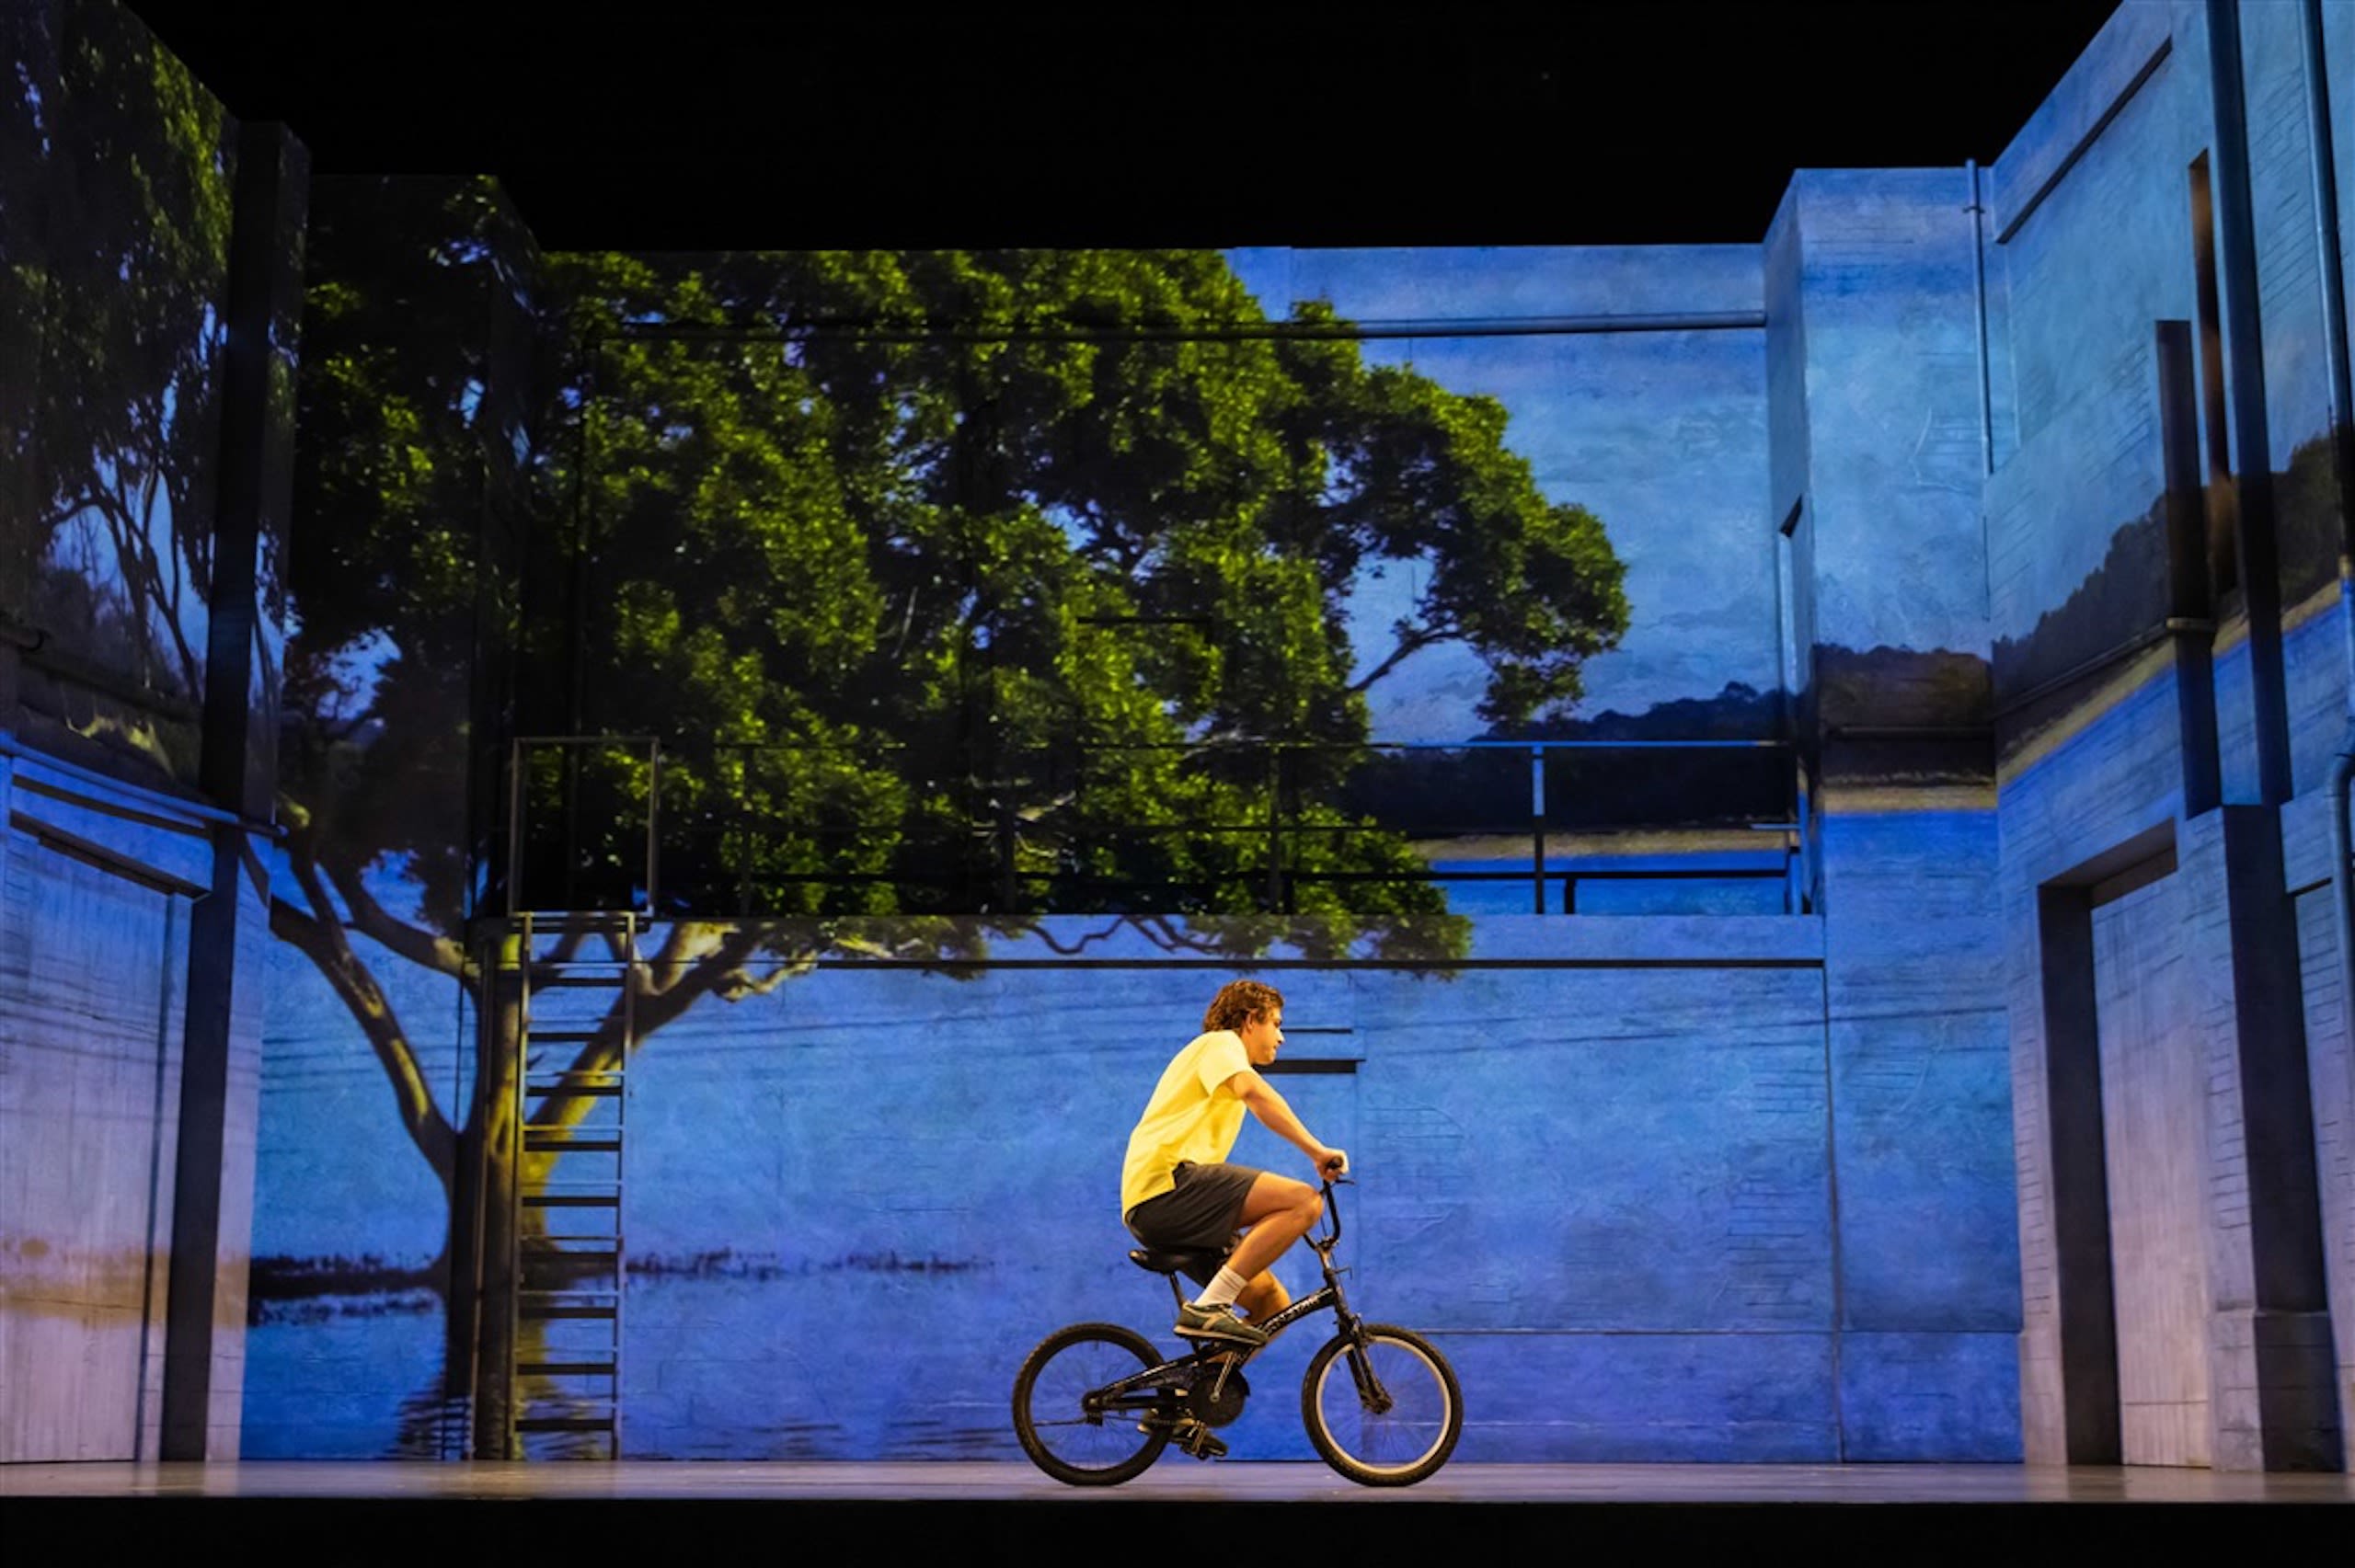
[[[327,181],[313,198],[297,410],[271,930],[334,986],[450,1184],[462,1130],[365,946],[487,1001],[469,946],[487,687],[513,640],[535,483],[530,240],[487,181]],[[379,902],[396,873],[412,904]],[[464,1132],[483,1137],[487,1125]]]

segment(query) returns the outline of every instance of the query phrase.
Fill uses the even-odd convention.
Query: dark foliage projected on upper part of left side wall
[[[212,459],[228,268],[219,101],[115,5],[9,7],[0,85],[0,443],[21,567],[0,610],[40,662],[101,690],[203,692]],[[89,720],[167,770],[155,713]]]

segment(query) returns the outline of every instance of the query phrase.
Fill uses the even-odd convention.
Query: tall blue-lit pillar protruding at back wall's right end
[[[1766,235],[1856,1460],[2016,1455],[1969,207],[1959,170],[1804,170]]]

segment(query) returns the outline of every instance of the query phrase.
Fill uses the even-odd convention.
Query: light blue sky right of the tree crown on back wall
[[[1752,245],[1236,250],[1229,264],[1269,315],[1328,299],[1359,325],[1432,323],[1382,337],[1368,363],[1413,365],[1458,393],[1498,398],[1507,445],[1554,501],[1604,520],[1627,563],[1632,624],[1587,666],[1580,711],[1641,711],[1773,683],[1773,530],[1766,518],[1766,334],[1762,330],[1451,334],[1448,323],[1571,315],[1745,313],[1762,301]],[[1359,666],[1422,582],[1415,563],[1352,593]],[[1486,671],[1444,645],[1371,692],[1375,735],[1467,739]]]

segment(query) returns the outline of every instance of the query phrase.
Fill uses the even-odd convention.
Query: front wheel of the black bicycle
[[[1413,1486],[1455,1453],[1465,1401],[1429,1340],[1366,1323],[1309,1358],[1300,1420],[1324,1462],[1359,1486]]]

